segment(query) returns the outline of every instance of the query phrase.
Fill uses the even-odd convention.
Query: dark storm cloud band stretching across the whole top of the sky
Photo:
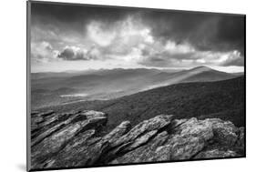
[[[92,20],[111,26],[128,15],[138,15],[152,29],[153,35],[163,40],[189,42],[200,50],[238,49],[244,53],[242,15],[40,3],[32,6],[32,23],[39,21],[44,25],[58,25],[60,30],[72,28],[81,33]]]

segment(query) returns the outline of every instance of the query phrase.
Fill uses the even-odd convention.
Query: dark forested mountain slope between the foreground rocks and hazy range
[[[164,86],[108,101],[87,101],[50,106],[56,111],[94,109],[108,113],[108,126],[123,120],[132,124],[159,114],[176,118],[220,117],[244,126],[244,77],[217,81]],[[43,108],[41,110],[46,110]]]

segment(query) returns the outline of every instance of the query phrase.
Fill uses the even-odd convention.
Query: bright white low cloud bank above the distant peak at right
[[[208,66],[243,66],[244,57],[237,50],[201,51],[189,44],[176,44],[168,41],[162,46],[143,46],[140,49],[143,58],[138,61],[144,66],[192,67]]]

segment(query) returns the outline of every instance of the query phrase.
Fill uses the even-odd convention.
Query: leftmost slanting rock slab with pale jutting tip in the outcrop
[[[107,123],[107,116],[104,113],[95,113],[95,117],[93,117],[92,112],[89,112],[88,116],[85,115],[86,113],[83,112],[83,114],[70,117],[64,122],[65,124],[58,124],[50,128],[50,131],[46,131],[37,137],[36,141],[39,143],[35,145],[35,141],[34,147],[32,147],[32,166],[44,165],[44,161],[47,158],[55,156],[56,153],[67,146],[69,141],[75,139],[75,136],[81,131],[97,128]],[[80,120],[81,116],[87,116],[87,120]],[[54,163],[51,161],[49,164]]]

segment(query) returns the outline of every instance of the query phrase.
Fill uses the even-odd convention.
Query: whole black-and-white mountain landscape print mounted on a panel
[[[245,157],[245,15],[27,2],[27,170]]]

